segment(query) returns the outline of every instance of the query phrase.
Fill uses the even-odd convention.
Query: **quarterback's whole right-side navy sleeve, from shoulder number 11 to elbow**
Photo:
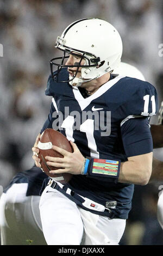
[[[149,125],[158,111],[158,95],[151,83],[127,78],[126,102],[120,106],[121,136],[127,157],[153,151]]]

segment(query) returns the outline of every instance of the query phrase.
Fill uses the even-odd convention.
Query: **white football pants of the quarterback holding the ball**
[[[40,215],[48,245],[118,245],[126,227],[126,220],[83,210],[50,186],[42,193]]]

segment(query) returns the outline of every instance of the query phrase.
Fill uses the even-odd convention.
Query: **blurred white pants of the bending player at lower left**
[[[39,211],[40,196],[26,196],[27,183],[13,184],[0,199],[1,245],[46,245]]]

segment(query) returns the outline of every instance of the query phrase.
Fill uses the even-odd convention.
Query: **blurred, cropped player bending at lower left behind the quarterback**
[[[1,245],[46,245],[39,211],[43,180],[40,168],[19,172],[0,199]]]

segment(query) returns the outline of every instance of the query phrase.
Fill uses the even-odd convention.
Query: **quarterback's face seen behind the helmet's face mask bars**
[[[69,58],[68,58],[68,60],[67,60],[65,65],[79,65],[80,60],[81,60],[81,58],[70,54],[70,56],[69,56]],[[82,62],[80,63],[80,65],[84,65],[84,63],[85,63],[85,60],[82,59]],[[77,72],[77,75],[76,75],[77,78],[79,78],[81,76],[81,69],[82,68],[78,69],[78,72]],[[73,75],[76,74],[77,68],[76,67],[68,68],[67,70],[68,70],[70,76],[73,77]]]

